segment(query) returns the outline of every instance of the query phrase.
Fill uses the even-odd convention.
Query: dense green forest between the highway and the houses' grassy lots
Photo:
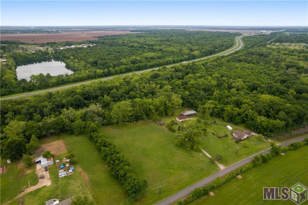
[[[255,38],[259,37],[246,40],[251,43]],[[2,156],[17,159],[31,151],[26,145],[33,135],[82,133],[93,122],[157,121],[181,106],[245,123],[267,137],[289,132],[308,121],[307,62],[306,49],[253,47],[141,76],[5,100],[1,102]]]

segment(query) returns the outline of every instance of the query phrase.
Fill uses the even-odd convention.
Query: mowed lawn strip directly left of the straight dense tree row
[[[94,143],[88,139],[86,134],[56,135],[41,139],[41,143],[61,139],[64,140],[67,151],[73,152],[78,158],[78,166],[86,176],[90,194],[95,204],[114,204],[127,197],[122,185],[111,175],[106,163],[100,158],[99,150],[96,149]],[[74,167],[78,170],[78,166]],[[87,184],[80,171],[78,171],[78,175],[81,177],[79,183],[87,190]]]

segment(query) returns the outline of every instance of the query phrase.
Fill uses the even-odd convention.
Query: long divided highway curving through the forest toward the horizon
[[[236,37],[236,45],[233,46],[232,48],[228,49],[227,51],[222,51],[222,52],[219,52],[217,54],[213,54],[213,55],[202,57],[202,58],[198,58],[198,59],[187,60],[186,62],[189,63],[189,62],[204,60],[204,59],[211,58],[211,57],[218,56],[218,55],[229,55],[230,53],[233,53],[233,52],[241,49],[241,47],[243,47],[243,42],[241,40],[242,37],[243,36]],[[131,72],[131,73],[125,73],[125,74],[119,74],[119,75],[127,76],[127,75],[132,75],[133,73],[140,74],[140,73],[149,72],[149,71],[152,71],[152,70],[158,70],[159,68],[162,68],[162,67],[171,67],[171,66],[179,65],[179,64],[182,64],[182,62],[176,63],[176,64],[171,64],[171,65],[166,65],[166,66],[160,66],[160,67],[154,68],[154,69],[153,68],[149,68],[149,69],[145,69],[145,70],[141,70],[141,71],[137,71],[137,72]],[[115,76],[110,76],[110,77],[100,78],[98,80],[110,80],[110,79],[112,79],[114,77]],[[52,92],[52,91],[56,91],[56,90],[62,90],[62,89],[73,87],[73,86],[79,86],[79,85],[83,85],[83,84],[88,84],[88,83],[91,83],[92,81],[97,81],[97,80],[88,80],[88,81],[84,81],[84,82],[77,82],[77,83],[74,83],[74,84],[63,85],[63,86],[56,87],[56,88],[47,88],[47,89],[40,90],[40,91],[37,91],[37,92],[29,92],[28,95],[20,94],[20,95],[11,96],[11,97],[1,97],[1,100],[16,99],[16,98],[20,98],[20,97],[27,97],[27,96],[31,96],[31,95],[37,95],[37,94],[41,94],[41,93],[44,93],[44,92]]]

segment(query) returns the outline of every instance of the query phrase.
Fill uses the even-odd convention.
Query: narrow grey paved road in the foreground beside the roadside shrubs
[[[290,140],[290,141],[286,141],[286,142],[283,142],[279,145],[282,145],[283,147],[285,146],[288,146],[291,142],[295,142],[295,141],[303,141],[307,136],[303,136],[303,137],[299,137],[297,139],[293,139],[293,140]],[[207,184],[213,182],[217,177],[222,177],[222,176],[225,176],[226,174],[238,169],[239,167],[247,164],[248,162],[251,162],[253,160],[253,158],[259,154],[266,154],[270,152],[270,148],[266,149],[266,150],[263,150],[257,154],[253,154],[251,155],[250,157],[247,157],[231,166],[228,166],[226,167],[225,169],[223,170],[220,170],[219,172],[205,178],[205,179],[202,179],[201,181],[193,184],[192,186],[190,187],[187,187],[186,189],[183,189],[182,191],[176,193],[175,195],[172,195],[170,197],[168,197],[167,199],[164,199],[163,201],[160,201],[159,203],[157,203],[157,205],[168,205],[168,204],[172,204],[172,203],[175,203],[176,201],[182,199],[183,197],[187,196],[190,194],[191,191],[195,190],[196,188],[198,187],[205,187]]]

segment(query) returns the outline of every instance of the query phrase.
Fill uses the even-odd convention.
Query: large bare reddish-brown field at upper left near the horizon
[[[96,36],[130,34],[130,31],[75,31],[59,34],[6,34],[1,40],[19,40],[26,43],[46,43],[63,41],[84,41],[98,39]]]

